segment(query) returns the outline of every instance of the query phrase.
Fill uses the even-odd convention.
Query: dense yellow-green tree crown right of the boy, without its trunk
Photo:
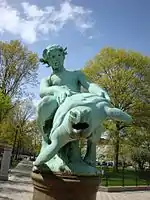
[[[132,51],[104,48],[87,64],[84,72],[92,81],[106,88],[114,106],[136,115],[135,110],[140,109],[140,113],[146,110],[148,85],[144,80],[148,69],[149,57]]]

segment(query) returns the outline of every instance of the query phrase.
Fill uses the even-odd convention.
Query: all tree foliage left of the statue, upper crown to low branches
[[[28,132],[33,106],[20,99],[27,95],[27,86],[37,84],[38,64],[37,54],[20,41],[0,41],[0,142],[19,151],[32,146]]]

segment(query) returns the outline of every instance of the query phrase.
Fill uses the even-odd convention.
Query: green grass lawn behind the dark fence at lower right
[[[124,183],[123,183],[124,176]],[[107,178],[106,178],[107,177]],[[135,172],[133,169],[119,169],[114,172],[112,168],[105,168],[105,174],[101,176],[102,186],[136,186],[150,185],[150,172]]]

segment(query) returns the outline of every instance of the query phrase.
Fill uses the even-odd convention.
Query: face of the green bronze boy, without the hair
[[[65,56],[61,49],[51,50],[48,54],[48,63],[53,70],[60,70],[63,68]]]

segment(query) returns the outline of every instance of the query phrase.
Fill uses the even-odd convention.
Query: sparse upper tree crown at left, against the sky
[[[15,97],[37,82],[38,57],[18,40],[0,41],[0,89]]]

